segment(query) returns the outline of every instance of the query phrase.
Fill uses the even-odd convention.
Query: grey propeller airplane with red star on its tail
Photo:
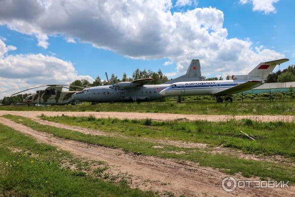
[[[108,76],[106,74],[108,82]],[[131,82],[119,82],[112,85],[95,86],[84,89],[72,95],[72,100],[89,102],[129,102],[152,101],[163,98],[159,93],[170,84],[179,81],[201,80],[201,66],[199,60],[192,60],[186,74],[159,85],[148,85],[153,79],[137,79]]]

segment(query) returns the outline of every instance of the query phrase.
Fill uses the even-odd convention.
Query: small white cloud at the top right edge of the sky
[[[274,3],[279,0],[240,0],[239,3],[246,4],[252,2],[253,11],[264,12],[264,14],[276,13]]]

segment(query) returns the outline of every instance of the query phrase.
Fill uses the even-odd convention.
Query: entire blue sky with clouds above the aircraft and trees
[[[294,0],[1,0],[0,92],[136,68],[169,78],[295,64]],[[276,69],[279,69],[278,67]],[[0,94],[0,99],[7,94]]]

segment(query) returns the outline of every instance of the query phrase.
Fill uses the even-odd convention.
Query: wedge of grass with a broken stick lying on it
[[[244,153],[282,155],[295,158],[295,123],[257,122],[249,119],[227,122],[119,120],[113,118],[41,116],[43,120],[127,136],[182,140],[232,147]],[[253,141],[240,131],[256,136]]]

